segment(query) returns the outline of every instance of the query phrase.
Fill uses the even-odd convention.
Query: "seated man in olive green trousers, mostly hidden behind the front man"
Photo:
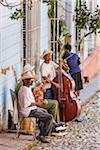
[[[29,71],[31,71],[32,74],[35,75],[33,67],[30,64],[27,64],[26,66],[24,66],[23,73],[26,73],[26,72],[29,72]],[[40,81],[36,82],[36,80],[34,80],[32,86],[30,86],[32,91],[34,91],[34,89],[36,89],[39,84],[40,84]],[[18,92],[19,92],[19,90],[20,90],[22,85],[23,85],[23,81],[22,80],[20,80],[17,83],[17,85],[16,85],[15,93],[16,93],[17,97],[18,97]],[[45,87],[43,87],[43,90],[45,90]],[[35,90],[34,96],[36,98],[36,90]],[[59,122],[59,104],[58,104],[58,101],[56,101],[56,100],[52,100],[52,101],[49,100],[47,102],[46,100],[44,100],[43,102],[40,103],[40,107],[46,109],[50,114],[53,115],[54,120]]]

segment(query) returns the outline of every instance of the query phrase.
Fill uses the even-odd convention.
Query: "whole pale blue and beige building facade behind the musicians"
[[[53,43],[54,60],[58,58],[56,44],[59,39],[59,20],[64,19],[67,33],[72,35],[72,51],[76,52],[75,7],[77,0],[58,1],[55,18],[48,18],[48,5],[42,0],[33,1],[32,9],[27,6],[28,0],[21,5],[25,17],[23,20],[11,20],[11,11],[0,5],[0,130],[8,128],[8,110],[12,108],[10,89],[15,89],[16,79],[20,77],[26,63],[35,65],[36,74],[39,75],[41,63],[40,55],[44,50],[51,49]],[[87,5],[94,11],[100,6],[99,0],[86,0]],[[12,2],[8,0],[8,2]],[[16,0],[19,3],[20,0]],[[54,28],[57,25],[57,36],[51,41],[51,20]],[[86,31],[84,31],[86,32]],[[79,35],[78,35],[79,36]],[[93,34],[84,39],[83,59],[87,59],[91,51],[100,47],[100,35]],[[94,63],[95,64],[95,63]],[[90,66],[90,64],[89,64]],[[88,66],[87,66],[88,68]],[[87,69],[88,70],[88,69]],[[16,78],[14,71],[16,72]],[[92,72],[92,71],[91,71]]]

